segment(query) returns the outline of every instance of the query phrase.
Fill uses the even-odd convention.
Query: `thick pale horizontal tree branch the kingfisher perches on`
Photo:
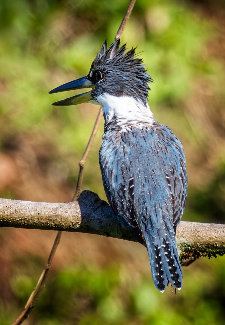
[[[90,191],[69,203],[0,199],[0,227],[75,231],[135,241],[110,206]],[[182,221],[176,239],[181,260],[225,254],[225,225]]]

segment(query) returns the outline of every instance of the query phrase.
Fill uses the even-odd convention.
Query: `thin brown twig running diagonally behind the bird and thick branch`
[[[127,23],[128,19],[130,17],[130,14],[131,14],[131,11],[132,11],[133,6],[135,4],[135,1],[136,0],[130,0],[130,3],[128,5],[127,9],[126,9],[124,18],[123,18],[122,23],[120,25],[120,28],[118,29],[118,32],[116,33],[115,39],[118,39],[118,38],[120,38],[122,36],[122,33],[124,31],[124,28],[126,26],[126,23]],[[84,152],[84,154],[83,154],[83,156],[82,156],[82,158],[80,159],[80,162],[79,162],[79,174],[78,174],[78,179],[77,179],[77,188],[76,188],[76,192],[75,192],[75,194],[73,196],[72,201],[77,200],[80,193],[81,193],[84,165],[85,165],[85,163],[87,161],[90,148],[92,146],[92,143],[93,143],[94,138],[96,136],[96,133],[98,131],[99,123],[101,121],[101,116],[102,116],[102,109],[100,107],[97,118],[96,118],[96,121],[95,121],[93,131],[91,133],[90,139],[89,139],[88,144],[87,144],[87,147],[86,147],[85,152]],[[43,288],[45,286],[45,282],[47,280],[47,276],[48,276],[48,273],[49,273],[49,270],[50,270],[50,267],[51,267],[51,264],[52,264],[52,261],[53,261],[55,251],[56,251],[56,249],[58,247],[58,244],[60,242],[61,235],[62,235],[62,231],[58,231],[57,235],[56,235],[56,238],[55,238],[55,241],[54,241],[54,244],[53,244],[53,247],[52,247],[52,250],[51,250],[51,253],[50,253],[49,258],[48,258],[47,265],[44,268],[43,272],[41,273],[41,276],[40,276],[40,278],[39,278],[33,292],[31,293],[31,295],[30,295],[30,297],[29,297],[29,299],[28,299],[28,301],[27,301],[27,303],[25,305],[24,311],[17,318],[17,320],[13,323],[13,325],[19,325],[26,318],[28,318],[31,309],[37,303],[38,298],[39,298],[39,296],[40,296],[40,294],[41,294],[41,292],[42,292],[42,290],[43,290]],[[37,291],[37,293],[35,294],[36,291]]]

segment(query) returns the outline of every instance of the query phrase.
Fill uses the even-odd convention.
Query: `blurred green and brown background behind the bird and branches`
[[[48,95],[89,72],[113,42],[128,0],[0,1],[0,196],[70,201],[98,106],[53,107]],[[189,187],[183,220],[224,223],[225,3],[137,0],[122,43],[154,80],[149,105],[183,143]],[[77,92],[79,93],[79,92]],[[69,94],[69,95],[68,95]],[[68,96],[67,96],[68,95]],[[106,199],[98,163],[103,119],[83,189]],[[45,266],[56,233],[0,230],[0,324],[11,324]],[[225,323],[224,257],[183,268],[181,292],[158,292],[138,243],[63,233],[47,285],[24,324]]]

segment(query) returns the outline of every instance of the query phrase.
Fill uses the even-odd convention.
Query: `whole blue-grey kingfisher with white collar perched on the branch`
[[[187,194],[184,149],[172,130],[154,119],[149,84],[136,48],[105,41],[87,76],[49,93],[92,88],[52,105],[101,105],[104,115],[99,162],[109,204],[120,224],[147,247],[152,278],[164,292],[182,287],[175,240]]]

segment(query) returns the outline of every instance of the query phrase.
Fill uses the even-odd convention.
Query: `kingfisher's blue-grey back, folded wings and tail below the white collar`
[[[187,173],[181,142],[154,122],[106,128],[99,153],[108,201],[121,225],[145,242],[158,290],[182,286],[175,227],[184,211]]]

